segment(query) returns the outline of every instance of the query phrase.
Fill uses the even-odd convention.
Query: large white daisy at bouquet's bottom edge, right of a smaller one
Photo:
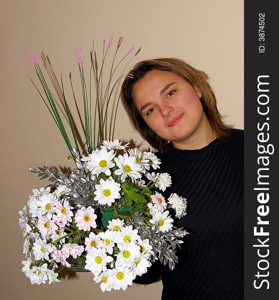
[[[132,285],[132,280],[135,278],[130,269],[121,266],[108,269],[107,273],[109,275],[108,282],[113,289],[126,290],[128,285]]]

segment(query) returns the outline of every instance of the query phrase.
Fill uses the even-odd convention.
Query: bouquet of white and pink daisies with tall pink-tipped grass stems
[[[183,216],[186,199],[175,193],[164,198],[161,192],[171,185],[171,178],[167,173],[155,173],[160,160],[152,152],[128,148],[128,144],[123,145],[117,139],[109,141],[102,138],[112,94],[111,90],[108,92],[109,87],[100,103],[97,85],[92,136],[91,105],[86,94],[83,59],[82,54],[79,57],[76,53],[86,129],[85,154],[82,155],[64,92],[64,108],[75,147],[70,144],[38,61],[34,55],[30,56],[49,106],[40,95],[64,137],[75,167],[66,174],[52,167],[30,168],[31,172],[38,173],[40,179],[48,178],[51,183],[33,189],[27,202],[28,208],[25,205],[19,211],[19,226],[25,236],[23,253],[26,260],[22,261],[22,271],[26,277],[32,284],[55,283],[60,281],[58,274],[64,267],[74,271],[91,271],[93,280],[100,282],[101,290],[110,291],[125,290],[155,260],[168,263],[173,269],[177,262],[176,248],[182,243],[179,238],[188,232],[173,226],[170,210],[178,218]],[[105,55],[102,64],[104,58]],[[99,82],[100,76],[101,73],[96,82]],[[95,134],[98,106],[99,126],[98,134]]]

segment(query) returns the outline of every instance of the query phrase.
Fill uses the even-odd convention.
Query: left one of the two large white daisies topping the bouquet
[[[105,148],[96,150],[92,154],[86,157],[82,157],[80,160],[87,161],[87,168],[93,175],[105,173],[110,176],[112,168],[115,163],[112,161],[115,153],[113,150],[107,151]]]

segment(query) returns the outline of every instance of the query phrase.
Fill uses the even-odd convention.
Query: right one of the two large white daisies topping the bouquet
[[[118,169],[115,170],[115,174],[121,176],[121,181],[125,181],[126,177],[129,176],[132,181],[141,177],[142,167],[136,162],[135,156],[128,156],[127,153],[124,155],[118,155],[114,157]]]

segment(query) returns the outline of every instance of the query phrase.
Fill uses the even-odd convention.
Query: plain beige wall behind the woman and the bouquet
[[[1,298],[159,299],[161,282],[102,293],[90,273],[33,286],[21,272],[23,237],[17,211],[32,188],[47,184],[28,168],[72,166],[57,128],[25,77],[28,71],[35,79],[28,51],[47,53],[58,76],[61,70],[77,76],[74,49],[82,48],[88,61],[92,38],[100,47],[104,38],[114,35],[115,46],[122,35],[120,53],[131,45],[142,47],[129,67],[144,58],[174,56],[204,70],[227,122],[243,128],[243,1],[13,0],[1,1],[0,14]],[[65,89],[71,99],[66,78]],[[141,143],[121,109],[115,137]]]

